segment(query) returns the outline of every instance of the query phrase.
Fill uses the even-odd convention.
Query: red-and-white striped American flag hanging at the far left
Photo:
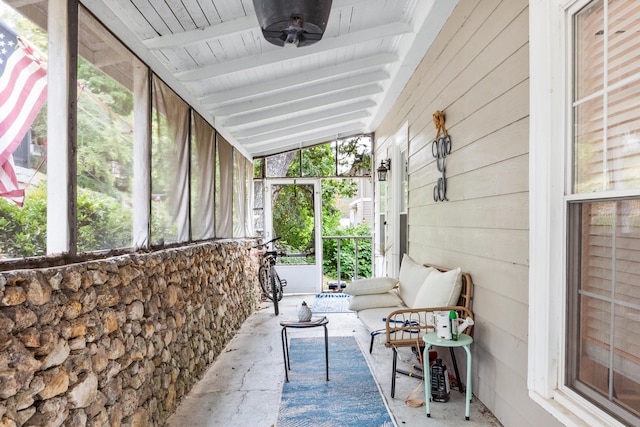
[[[32,47],[0,21],[0,197],[19,206],[13,152],[20,145],[47,97],[47,69]]]

